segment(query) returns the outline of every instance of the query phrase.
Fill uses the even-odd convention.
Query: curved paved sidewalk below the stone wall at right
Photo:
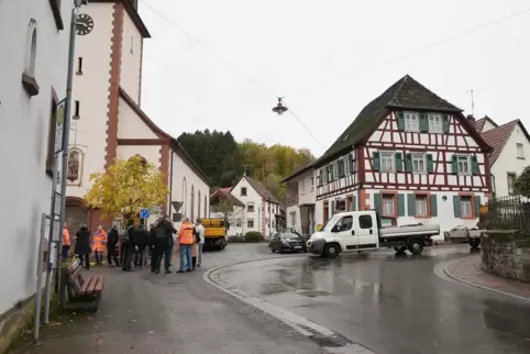
[[[481,255],[451,262],[445,266],[448,276],[467,285],[530,301],[530,284],[509,280],[481,269]]]

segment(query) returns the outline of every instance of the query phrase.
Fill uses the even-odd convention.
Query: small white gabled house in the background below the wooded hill
[[[230,192],[245,206],[241,234],[257,231],[269,237],[284,226],[283,203],[261,181],[243,175]]]

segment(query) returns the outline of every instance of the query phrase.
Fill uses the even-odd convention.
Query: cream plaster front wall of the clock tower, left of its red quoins
[[[73,97],[79,101],[80,119],[74,122],[70,145],[77,144],[85,156],[80,186],[68,186],[67,196],[82,198],[90,189],[90,174],[104,169],[113,12],[112,3],[102,2],[80,10],[95,25],[89,34],[76,36],[76,71],[77,58],[82,57],[82,75],[74,76]]]

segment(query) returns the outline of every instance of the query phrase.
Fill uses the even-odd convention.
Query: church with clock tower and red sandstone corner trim
[[[89,176],[103,172],[115,158],[135,155],[158,167],[170,189],[167,202],[145,206],[153,210],[150,223],[162,214],[177,226],[183,217],[207,215],[211,182],[180,144],[141,109],[143,41],[151,35],[135,1],[89,1],[78,21],[67,175],[70,231],[80,223],[91,230],[98,224],[110,226],[112,220],[101,220],[99,210],[84,204]]]

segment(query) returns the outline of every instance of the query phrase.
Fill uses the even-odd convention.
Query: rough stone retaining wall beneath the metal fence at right
[[[530,281],[530,239],[523,239],[511,230],[485,231],[481,254],[483,270]]]

